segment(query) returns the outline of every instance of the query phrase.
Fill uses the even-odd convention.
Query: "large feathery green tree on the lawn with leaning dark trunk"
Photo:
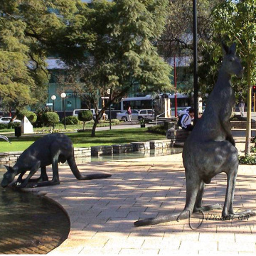
[[[171,67],[155,47],[164,29],[167,6],[167,0],[92,1],[90,11],[81,14],[83,19],[74,19],[68,28],[77,35],[72,38],[74,45],[87,46],[82,60],[75,61],[78,72],[85,70],[80,78],[84,90],[96,99],[105,96],[107,89],[112,91],[112,98],[96,116],[92,136],[103,112],[127,95],[135,83],[139,82],[140,89],[147,92],[173,88]],[[83,31],[90,31],[89,44],[81,36]]]

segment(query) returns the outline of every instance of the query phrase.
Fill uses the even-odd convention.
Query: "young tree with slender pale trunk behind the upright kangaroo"
[[[245,154],[250,154],[252,85],[256,82],[256,1],[225,1],[213,11],[216,38],[235,41],[245,64],[247,129]]]

